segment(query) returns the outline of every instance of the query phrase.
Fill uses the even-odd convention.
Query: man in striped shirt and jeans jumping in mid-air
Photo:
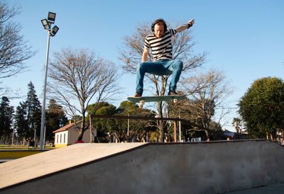
[[[156,75],[173,74],[170,81],[168,95],[177,95],[175,89],[177,87],[180,74],[182,72],[182,61],[173,59],[172,36],[175,33],[180,33],[183,30],[190,28],[195,20],[188,21],[185,25],[180,25],[177,28],[167,28],[165,21],[162,19],[155,20],[151,25],[153,34],[146,36],[144,42],[144,50],[142,62],[138,64],[136,69],[136,93],[135,97],[142,96],[143,79],[145,73]],[[149,49],[154,57],[153,62],[146,62]]]

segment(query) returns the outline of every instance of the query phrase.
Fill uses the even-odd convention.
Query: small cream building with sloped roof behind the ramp
[[[70,144],[75,144],[75,141],[77,140],[78,135],[79,135],[79,131],[77,130],[77,128],[81,127],[81,122],[82,120],[76,122],[77,127],[75,127],[75,122],[72,122],[68,125],[65,125],[64,127],[61,127],[58,130],[55,130],[53,132],[55,134],[55,139],[54,139],[55,147],[65,147]],[[93,130],[92,130],[92,134],[93,134]],[[84,131],[82,140],[85,143],[90,142],[89,129]]]

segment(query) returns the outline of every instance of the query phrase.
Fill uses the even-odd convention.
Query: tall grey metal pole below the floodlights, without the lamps
[[[48,55],[50,45],[50,30],[48,30],[48,46],[46,48],[46,59],[45,59],[45,81],[43,86],[43,107],[41,109],[41,124],[40,124],[40,150],[43,150],[43,132],[45,122],[45,93],[46,93],[46,82],[48,78]]]

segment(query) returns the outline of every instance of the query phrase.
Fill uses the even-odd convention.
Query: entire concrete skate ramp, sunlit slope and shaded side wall
[[[4,193],[226,193],[284,183],[267,140],[75,144],[0,164]]]

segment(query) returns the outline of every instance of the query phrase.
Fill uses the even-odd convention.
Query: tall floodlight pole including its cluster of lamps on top
[[[43,87],[43,107],[41,109],[41,125],[40,125],[40,150],[43,150],[43,137],[44,137],[44,125],[45,125],[45,93],[46,93],[46,81],[48,77],[48,55],[49,55],[49,42],[50,42],[50,36],[55,36],[56,33],[58,33],[58,26],[55,25],[51,29],[51,25],[55,23],[55,16],[56,13],[48,12],[48,19],[41,20],[41,23],[43,23],[43,28],[45,30],[48,30],[48,46],[46,49],[46,58],[45,58],[45,81],[44,81],[44,87]]]

